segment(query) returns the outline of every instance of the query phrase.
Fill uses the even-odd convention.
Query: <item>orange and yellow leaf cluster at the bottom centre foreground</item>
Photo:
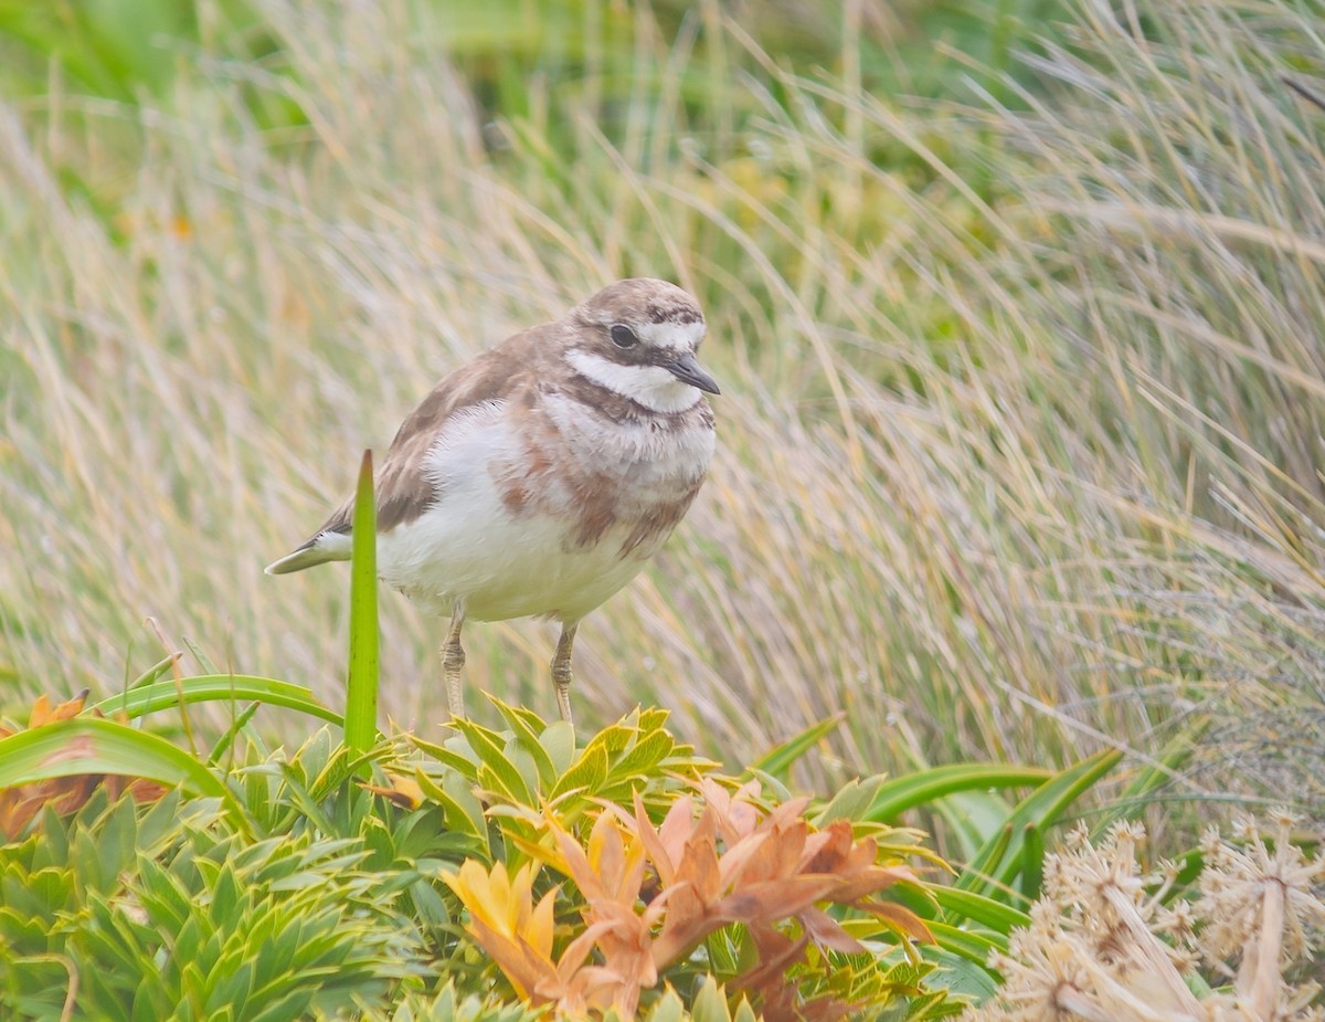
[[[916,876],[901,862],[880,863],[874,839],[857,839],[848,821],[814,830],[803,815],[807,799],[765,813],[753,802],[757,783],[733,794],[704,779],[701,793],[701,811],[684,795],[656,827],[639,797],[633,815],[604,807],[583,847],[545,813],[551,843],[526,850],[568,876],[584,899],[583,931],[556,960],[556,891],[534,907],[531,864],[514,880],[504,864],[488,872],[474,862],[445,878],[469,909],[470,935],[521,995],[562,1014],[615,1009],[629,1019],[643,992],[656,988],[669,968],[710,935],[739,924],[757,961],[733,985],[758,994],[770,1022],[836,1018],[852,1005],[829,997],[806,1002],[788,980],[788,969],[807,961],[811,942],[868,950],[824,905],[872,913],[908,950],[913,940],[933,940],[909,909],[873,897]]]

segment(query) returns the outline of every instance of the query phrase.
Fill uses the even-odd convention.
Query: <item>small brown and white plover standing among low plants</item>
[[[706,325],[685,290],[611,284],[555,322],[489,347],[401,423],[375,472],[378,574],[449,616],[441,673],[465,714],[466,620],[560,623],[551,660],[572,721],[580,620],[629,582],[694,501],[714,453],[700,365]],[[268,565],[272,575],[350,558],[354,498]]]

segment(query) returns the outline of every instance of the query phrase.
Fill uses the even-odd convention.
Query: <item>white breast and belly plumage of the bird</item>
[[[555,471],[538,500],[511,510],[501,480],[529,460],[515,418],[522,410],[488,402],[461,412],[428,453],[436,504],[378,541],[382,578],[429,612],[450,615],[464,604],[477,620],[583,616],[629,582],[665,538],[623,555],[639,516],[693,486],[713,455],[710,428],[662,432],[649,420],[621,427],[567,398],[541,400],[562,440],[546,453],[591,464],[620,486],[619,521],[598,542],[579,543],[579,509]]]

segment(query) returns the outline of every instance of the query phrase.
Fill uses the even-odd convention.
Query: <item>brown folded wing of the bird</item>
[[[376,479],[378,532],[412,522],[437,501],[436,488],[424,473],[428,448],[456,412],[484,402],[518,399],[538,386],[538,363],[551,338],[554,323],[515,334],[452,372],[423,399],[396,431]],[[354,497],[347,500],[314,533],[348,533],[354,521]],[[310,539],[311,542],[311,539]]]

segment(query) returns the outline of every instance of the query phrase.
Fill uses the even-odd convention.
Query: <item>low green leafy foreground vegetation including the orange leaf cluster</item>
[[[179,707],[227,699],[209,677],[178,689]],[[974,789],[979,770],[795,799],[794,746],[738,786],[662,710],[578,745],[564,722],[494,705],[504,730],[460,721],[443,745],[396,736],[367,754],[327,729],[265,753],[250,721],[211,765],[81,700],[38,705],[0,737],[0,1007],[376,1018],[457,1010],[458,984],[496,997],[474,1006],[485,1018],[530,999],[700,1018],[725,1003],[705,1007],[718,981],[766,1018],[939,1018],[994,990],[988,956],[1030,923],[1022,870],[994,870],[1026,862],[1008,834],[1051,827],[1117,764],[984,771],[984,787],[1030,794],[949,887],[920,834],[885,821]],[[52,752],[32,760],[32,738]],[[375,782],[355,779],[364,765]]]

